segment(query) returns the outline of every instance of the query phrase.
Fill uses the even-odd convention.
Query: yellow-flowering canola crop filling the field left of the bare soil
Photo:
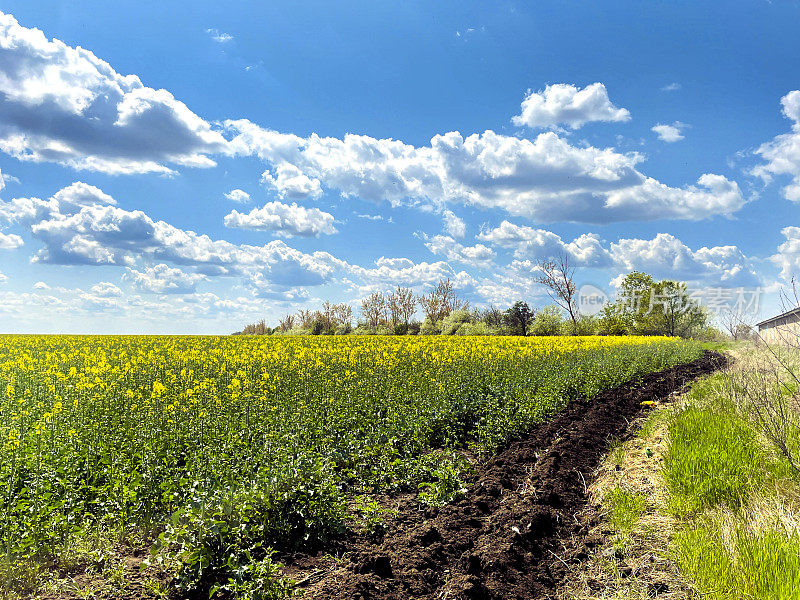
[[[265,544],[313,544],[357,495],[446,501],[457,450],[700,354],[663,337],[0,336],[0,544],[42,553],[233,500]]]

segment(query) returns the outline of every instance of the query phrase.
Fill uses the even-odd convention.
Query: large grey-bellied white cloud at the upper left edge
[[[222,135],[166,90],[0,13],[0,150],[105,173],[208,167]]]

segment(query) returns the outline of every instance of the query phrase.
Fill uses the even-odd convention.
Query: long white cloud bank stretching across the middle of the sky
[[[637,170],[638,154],[576,147],[554,132],[533,140],[493,131],[436,135],[430,146],[346,135],[300,138],[228,121],[238,154],[292,164],[309,181],[392,205],[446,203],[497,208],[541,222],[605,223],[728,215],[744,204],[738,185],[705,174],[698,185],[670,187]],[[278,181],[276,179],[276,181]],[[705,189],[703,189],[705,188]]]

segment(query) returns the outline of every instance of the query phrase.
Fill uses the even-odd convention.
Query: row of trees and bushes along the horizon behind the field
[[[275,327],[261,320],[234,335],[724,336],[710,324],[708,312],[691,299],[685,283],[656,281],[634,271],[622,280],[615,302],[587,315],[578,311],[575,268],[566,256],[540,261],[536,273],[535,281],[553,302],[538,310],[524,300],[505,308],[472,308],[450,279],[442,279],[426,294],[402,286],[390,293],[374,292],[361,300],[358,320],[350,304],[326,301],[318,310],[284,316]],[[422,320],[414,319],[418,310]]]

